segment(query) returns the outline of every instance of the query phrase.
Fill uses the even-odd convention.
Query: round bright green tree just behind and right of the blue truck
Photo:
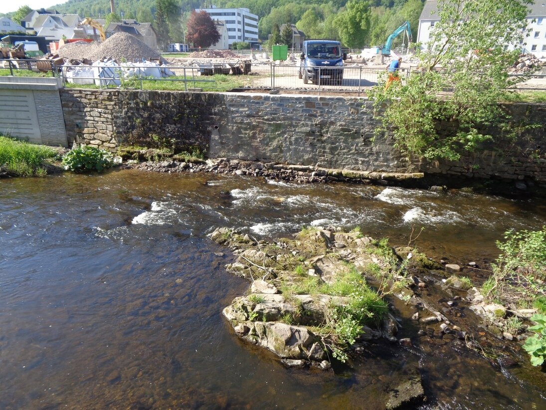
[[[370,30],[370,5],[364,1],[349,0],[345,10],[335,17],[334,22],[339,27],[343,44],[352,49],[361,47]]]

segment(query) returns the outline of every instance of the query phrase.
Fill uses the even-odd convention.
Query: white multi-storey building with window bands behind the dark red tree
[[[225,23],[229,46],[239,41],[246,41],[251,45],[258,43],[258,16],[252,14],[249,9],[218,9],[212,6],[210,9],[195,11],[206,11],[212,20],[221,20]]]

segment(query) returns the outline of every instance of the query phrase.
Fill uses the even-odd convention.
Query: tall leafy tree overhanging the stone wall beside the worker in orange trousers
[[[403,153],[455,160],[492,140],[492,127],[499,130],[495,138],[515,134],[498,102],[522,81],[509,77],[508,69],[517,61],[527,34],[529,4],[530,0],[438,1],[440,21],[431,29],[426,50],[417,54],[422,70],[410,75],[406,85],[385,90],[379,84],[369,93]],[[445,90],[451,90],[450,95],[439,99]],[[440,123],[443,129],[449,124],[453,132],[439,133]]]

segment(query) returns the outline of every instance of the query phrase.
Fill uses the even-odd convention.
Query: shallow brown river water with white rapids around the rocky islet
[[[456,341],[371,346],[335,373],[284,369],[240,341],[221,310],[248,283],[225,272],[230,252],[206,234],[329,224],[392,245],[424,227],[417,245],[432,257],[482,264],[503,231],[546,224],[546,205],[136,170],[1,180],[0,408],[381,409],[416,369],[422,408],[546,408],[543,373]]]

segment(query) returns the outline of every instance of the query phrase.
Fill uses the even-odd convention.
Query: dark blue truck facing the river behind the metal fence
[[[347,55],[341,52],[341,43],[335,40],[305,40],[300,55],[298,77],[304,84],[337,84],[343,81],[343,60]],[[320,68],[320,69],[319,69]]]

